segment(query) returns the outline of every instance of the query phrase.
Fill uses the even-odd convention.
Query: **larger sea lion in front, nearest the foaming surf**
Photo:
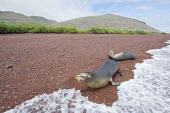
[[[113,79],[116,73],[119,73],[122,77],[124,76],[116,61],[107,60],[95,72],[80,73],[76,75],[75,78],[78,82],[90,88],[101,88],[109,82],[111,82],[112,85],[119,85],[120,83],[115,82]]]

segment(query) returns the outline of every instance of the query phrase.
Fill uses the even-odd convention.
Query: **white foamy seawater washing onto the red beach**
[[[135,65],[134,79],[118,86],[118,100],[111,107],[89,101],[79,90],[61,89],[6,113],[170,113],[170,45],[147,53],[152,59]]]

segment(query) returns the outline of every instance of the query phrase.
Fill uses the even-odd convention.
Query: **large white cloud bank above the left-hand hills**
[[[28,16],[38,15],[57,21],[95,15],[86,0],[0,0],[0,10]]]

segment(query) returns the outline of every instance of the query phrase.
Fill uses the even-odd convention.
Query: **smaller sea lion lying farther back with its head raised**
[[[134,60],[135,54],[130,52],[120,52],[116,55],[113,55],[113,51],[109,51],[108,57],[115,61]]]

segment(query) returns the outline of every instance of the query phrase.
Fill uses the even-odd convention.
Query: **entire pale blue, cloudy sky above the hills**
[[[58,22],[116,14],[170,33],[170,0],[0,0],[0,10],[43,16]]]

